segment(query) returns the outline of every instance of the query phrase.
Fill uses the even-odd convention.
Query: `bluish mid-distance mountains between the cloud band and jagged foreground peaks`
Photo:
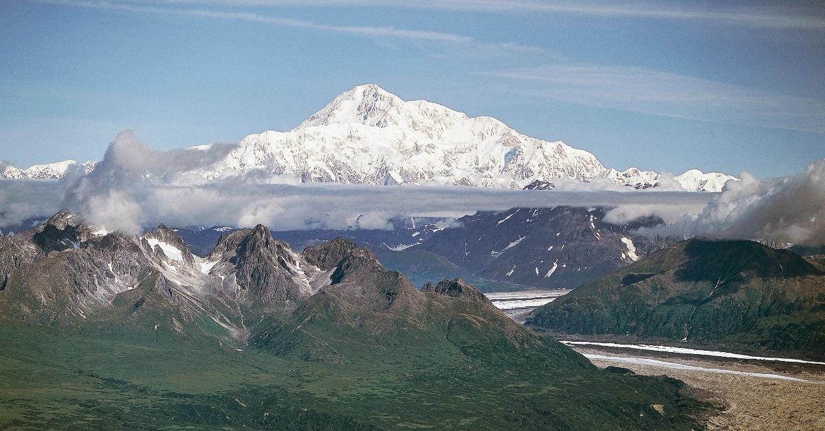
[[[369,246],[384,265],[419,284],[463,277],[483,291],[575,288],[669,246],[681,237],[641,235],[658,218],[606,223],[609,208],[511,208],[458,219],[395,218],[394,228],[276,232],[295,250],[335,237]],[[235,227],[181,227],[193,252],[206,255]]]

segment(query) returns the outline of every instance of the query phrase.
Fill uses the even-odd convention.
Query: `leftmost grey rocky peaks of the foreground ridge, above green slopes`
[[[0,238],[0,255],[8,258],[0,263],[0,317],[90,333],[155,337],[160,330],[165,340],[213,321],[228,338],[243,335],[227,308],[234,288],[204,274],[205,262],[163,225],[129,237],[61,211],[33,231]]]

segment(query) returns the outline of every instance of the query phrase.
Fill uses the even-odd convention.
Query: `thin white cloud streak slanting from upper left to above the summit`
[[[141,2],[97,2],[86,0],[32,0],[34,2],[48,3],[65,7],[82,7],[88,9],[101,9],[120,12],[135,12],[157,15],[172,16],[192,16],[200,18],[211,18],[224,21],[247,21],[272,26],[284,26],[306,30],[318,30],[346,35],[369,36],[375,38],[395,38],[404,40],[424,40],[434,42],[446,42],[460,45],[473,45],[480,48],[500,49],[517,52],[544,52],[544,49],[535,46],[518,45],[510,42],[490,43],[476,40],[468,35],[458,35],[455,33],[432,31],[432,30],[408,30],[395,26],[337,26],[330,24],[318,24],[313,21],[297,20],[281,16],[271,16],[257,12],[236,12],[227,10],[193,9],[181,7],[163,7],[140,4]],[[158,3],[158,2],[149,2]]]

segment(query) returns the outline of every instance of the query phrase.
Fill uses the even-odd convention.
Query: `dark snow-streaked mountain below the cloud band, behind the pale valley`
[[[417,246],[484,279],[574,288],[678,241],[634,231],[661,223],[604,222],[605,208],[511,208],[458,219]]]

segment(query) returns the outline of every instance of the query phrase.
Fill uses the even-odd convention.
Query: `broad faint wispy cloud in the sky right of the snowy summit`
[[[825,133],[825,101],[634,66],[550,64],[479,74],[552,100],[725,124]]]

